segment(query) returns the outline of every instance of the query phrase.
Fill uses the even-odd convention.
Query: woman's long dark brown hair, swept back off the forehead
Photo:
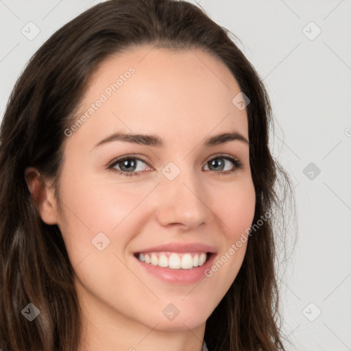
[[[206,322],[210,351],[285,350],[277,317],[278,286],[272,208],[282,207],[278,175],[289,178],[269,152],[271,106],[262,80],[234,44],[234,36],[186,1],[110,0],[54,33],[16,82],[0,135],[0,346],[3,351],[76,351],[81,311],[74,270],[61,232],[40,219],[24,170],[53,180],[58,194],[64,130],[73,124],[89,78],[101,62],[133,45],[200,48],[219,58],[250,98],[247,121],[256,191],[254,221],[243,265]],[[57,195],[58,196],[58,195]],[[265,221],[262,220],[263,216]],[[29,322],[23,310],[40,311]],[[29,310],[28,310],[29,311]]]

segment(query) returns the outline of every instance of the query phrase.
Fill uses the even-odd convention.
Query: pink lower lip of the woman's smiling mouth
[[[205,271],[211,267],[216,256],[216,254],[210,254],[210,257],[202,266],[190,269],[171,269],[169,267],[154,266],[151,263],[140,261],[135,256],[134,258],[147,273],[156,276],[160,280],[177,285],[188,285],[206,278]]]

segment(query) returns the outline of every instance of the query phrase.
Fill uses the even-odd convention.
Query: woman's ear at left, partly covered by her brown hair
[[[41,219],[47,224],[57,224],[58,213],[53,189],[40,178],[40,172],[34,167],[25,169],[25,180]]]

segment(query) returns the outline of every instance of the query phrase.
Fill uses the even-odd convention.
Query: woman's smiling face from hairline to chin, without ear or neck
[[[255,207],[239,92],[199,49],[138,47],[93,75],[65,131],[55,220],[91,323],[196,328],[228,291]]]

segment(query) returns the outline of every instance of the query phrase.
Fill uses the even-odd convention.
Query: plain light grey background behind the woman
[[[32,54],[98,2],[0,0],[1,118]],[[298,242],[279,278],[284,331],[294,350],[351,350],[351,1],[197,2],[264,78],[278,123],[271,147],[295,186]],[[30,21],[40,29],[32,40]]]

